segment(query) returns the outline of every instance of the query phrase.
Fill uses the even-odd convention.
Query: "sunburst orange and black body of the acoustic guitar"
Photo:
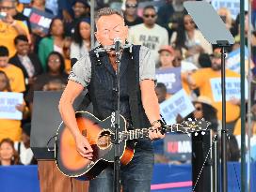
[[[87,138],[93,149],[93,158],[88,160],[76,151],[72,133],[62,123],[56,133],[56,165],[69,177],[90,180],[114,163],[114,145],[110,135],[115,133],[115,118],[109,116],[101,121],[87,111],[78,111],[75,117],[81,134]],[[121,115],[120,131],[127,131],[125,119]],[[134,156],[133,144],[129,143],[129,140],[120,142],[120,163],[123,165],[128,164]]]

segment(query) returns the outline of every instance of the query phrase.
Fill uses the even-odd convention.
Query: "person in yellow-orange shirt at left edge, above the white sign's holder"
[[[9,79],[12,92],[24,92],[24,74],[22,69],[8,63],[8,48],[0,46],[0,70],[4,71]]]

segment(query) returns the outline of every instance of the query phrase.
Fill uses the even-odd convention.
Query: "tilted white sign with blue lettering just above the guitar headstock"
[[[168,125],[175,124],[177,115],[187,116],[194,111],[194,105],[190,98],[186,95],[184,89],[168,98],[160,104],[160,111]]]

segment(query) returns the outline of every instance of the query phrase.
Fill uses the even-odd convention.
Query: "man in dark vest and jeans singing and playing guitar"
[[[128,27],[120,11],[105,7],[95,16],[95,37],[106,48],[114,44],[114,38],[120,37],[126,43]],[[98,47],[98,48],[100,48]],[[95,54],[97,48],[85,55],[72,67],[67,87],[59,101],[59,111],[63,122],[76,143],[77,151],[84,158],[92,159],[92,148],[81,134],[75,119],[72,103],[85,89],[93,104],[93,114],[104,120],[116,110],[115,95],[116,56],[114,51]],[[158,128],[161,116],[157,96],[154,92],[155,63],[151,51],[144,46],[122,49],[120,62],[120,114],[130,125],[149,127],[149,138],[164,138]],[[135,83],[133,83],[135,82]],[[133,97],[133,99],[131,99]],[[136,103],[135,103],[136,100]],[[132,161],[120,167],[120,181],[123,192],[151,191],[153,153],[151,140],[137,140]],[[90,181],[89,192],[112,192],[113,170],[105,169],[96,179]]]

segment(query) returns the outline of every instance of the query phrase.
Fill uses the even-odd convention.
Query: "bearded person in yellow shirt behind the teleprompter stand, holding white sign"
[[[200,68],[195,73],[187,73],[187,82],[190,84],[192,89],[199,88],[200,96],[207,96],[211,98],[213,106],[217,110],[218,120],[222,120],[222,102],[215,101],[215,96],[212,90],[211,81],[215,78],[221,78],[221,54],[220,49],[216,49],[212,55],[212,66]],[[230,69],[226,69],[227,78],[240,78],[240,75],[236,72],[233,72]],[[236,120],[240,116],[240,99],[233,97],[230,100],[227,100],[226,103],[226,122],[227,129],[232,133],[233,127]]]

